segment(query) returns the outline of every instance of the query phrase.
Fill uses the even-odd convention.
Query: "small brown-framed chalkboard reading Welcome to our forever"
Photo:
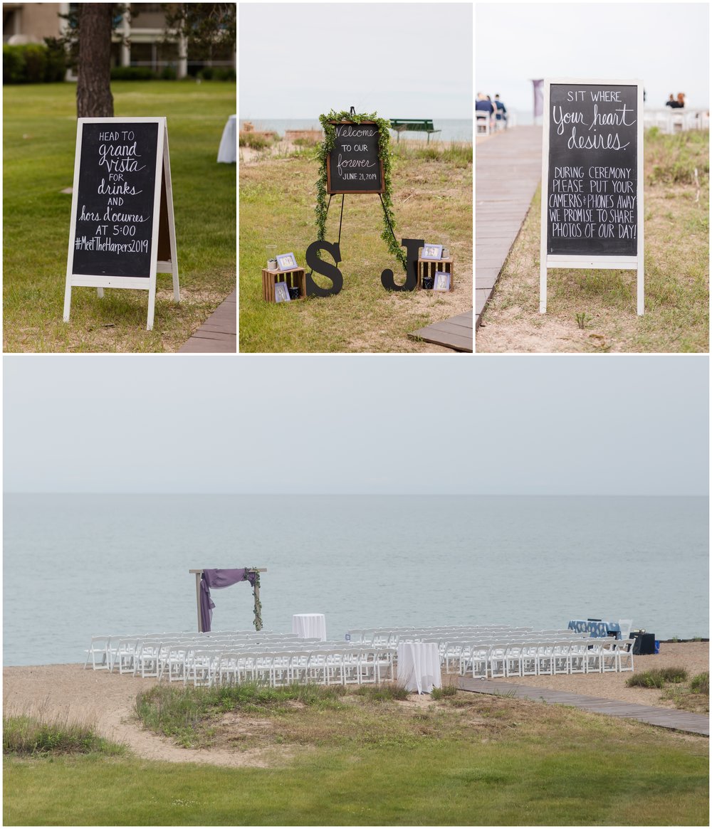
[[[334,124],[336,143],[326,164],[327,192],[383,193],[383,162],[378,156],[378,126]]]

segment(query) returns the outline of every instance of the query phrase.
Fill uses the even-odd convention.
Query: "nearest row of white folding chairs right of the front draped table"
[[[539,642],[493,642],[463,650],[461,676],[603,673],[633,670],[633,639],[547,639]]]

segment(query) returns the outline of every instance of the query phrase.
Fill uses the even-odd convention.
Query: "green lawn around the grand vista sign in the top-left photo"
[[[117,117],[168,118],[182,303],[158,274],[154,331],[147,291],[72,290],[62,322],[76,147],[73,84],[5,86],[3,322],[5,351],[175,351],[236,284],[236,170],[217,148],[236,108],[222,82],[115,81]]]

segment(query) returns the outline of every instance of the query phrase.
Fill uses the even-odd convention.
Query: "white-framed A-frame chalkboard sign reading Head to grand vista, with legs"
[[[154,327],[156,273],[173,274],[180,302],[168,126],[161,118],[80,118],[64,321],[75,286],[149,292]]]

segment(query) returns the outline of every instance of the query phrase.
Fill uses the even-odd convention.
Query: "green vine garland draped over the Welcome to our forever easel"
[[[324,129],[324,141],[319,145],[319,179],[316,182],[316,238],[319,241],[324,241],[326,235],[326,211],[329,203],[329,194],[326,192],[326,162],[329,158],[329,153],[334,149],[336,142],[336,128],[330,121],[350,121],[354,124],[361,124],[363,121],[373,121],[378,126],[378,155],[383,162],[383,183],[385,192],[381,194],[383,199],[383,232],[381,238],[388,245],[388,250],[393,256],[402,264],[403,270],[407,271],[407,258],[405,251],[402,250],[396,240],[393,239],[393,233],[388,226],[388,221],[391,223],[393,230],[396,228],[396,217],[393,214],[393,201],[391,201],[391,153],[390,141],[391,134],[388,132],[391,124],[384,118],[378,118],[378,114],[372,112],[370,114],[349,114],[345,110],[343,112],[334,112],[332,109],[329,114],[319,115],[319,121]],[[388,221],[386,219],[388,216]]]

